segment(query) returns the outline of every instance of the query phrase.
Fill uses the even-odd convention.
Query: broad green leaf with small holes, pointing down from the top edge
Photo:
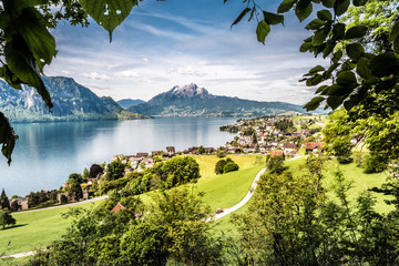
[[[90,17],[110,33],[125,20],[137,0],[79,0]]]

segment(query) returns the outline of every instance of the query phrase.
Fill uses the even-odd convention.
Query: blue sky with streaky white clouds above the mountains
[[[280,0],[258,0],[276,12]],[[88,28],[60,22],[52,30],[58,55],[44,73],[71,76],[99,96],[150,100],[196,83],[214,95],[305,104],[314,88],[298,81],[317,64],[300,53],[304,30],[286,13],[285,27],[274,25],[265,45],[256,39],[256,21],[232,22],[246,7],[242,0],[144,0],[108,32],[93,20]],[[247,17],[248,18],[248,17]]]

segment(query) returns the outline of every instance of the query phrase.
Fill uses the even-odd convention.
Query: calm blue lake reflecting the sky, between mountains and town
[[[13,124],[19,135],[11,166],[0,157],[0,190],[11,195],[59,188],[71,173],[93,163],[109,163],[115,154],[165,151],[175,146],[218,147],[234,134],[218,127],[236,119],[160,117],[132,121],[90,121]]]

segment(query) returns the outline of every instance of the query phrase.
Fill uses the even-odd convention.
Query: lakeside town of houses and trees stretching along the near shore
[[[165,151],[139,152],[135,155],[119,154],[112,162],[123,164],[124,174],[140,173],[161,161],[176,155],[217,155],[254,154],[294,157],[306,153],[316,153],[325,145],[321,135],[320,116],[264,116],[238,120],[233,125],[221,126],[221,131],[236,133],[231,142],[219,147],[192,146],[184,151],[176,151],[174,146],[166,146]],[[110,164],[111,164],[110,163]],[[99,190],[104,181],[110,164],[93,164],[85,168],[83,175],[73,173],[64,186],[59,190],[42,190],[31,192],[24,197],[13,195],[9,200],[11,211],[25,211],[59,204],[86,201],[93,196],[105,194]],[[4,192],[2,192],[4,193]]]

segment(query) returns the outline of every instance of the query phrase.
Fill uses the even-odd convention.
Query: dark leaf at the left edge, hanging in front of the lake
[[[10,125],[10,122],[0,112],[0,143],[2,144],[1,153],[7,157],[7,162],[11,164],[11,154],[16,146],[16,141],[18,135],[16,135],[13,129]]]

